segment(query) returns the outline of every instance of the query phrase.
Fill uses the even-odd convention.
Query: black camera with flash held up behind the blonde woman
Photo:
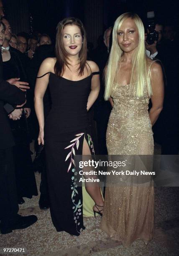
[[[158,41],[159,33],[155,31],[155,23],[154,23],[155,14],[153,11],[147,12],[147,21],[148,21],[148,33],[147,33],[147,44],[153,44],[154,41]]]

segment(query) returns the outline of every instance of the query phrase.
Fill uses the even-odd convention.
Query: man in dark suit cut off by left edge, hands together
[[[4,15],[3,3],[0,0],[0,18]],[[35,215],[20,216],[17,214],[18,202],[13,166],[12,147],[14,146],[13,135],[8,123],[8,108],[5,111],[4,102],[11,105],[22,105],[26,102],[25,94],[17,87],[25,90],[27,83],[10,79],[10,83],[2,79],[2,55],[0,53],[0,231],[2,234],[12,232],[14,229],[27,228],[37,221]],[[21,85],[22,84],[22,85]]]

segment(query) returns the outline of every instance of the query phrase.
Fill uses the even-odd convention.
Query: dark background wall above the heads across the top
[[[179,23],[178,0],[3,0],[5,12],[13,31],[30,31],[30,14],[33,31],[48,33],[55,39],[56,25],[65,17],[82,20],[88,41],[95,46],[104,30],[113,26],[122,13],[133,11],[145,21],[146,13],[154,10],[161,22]]]

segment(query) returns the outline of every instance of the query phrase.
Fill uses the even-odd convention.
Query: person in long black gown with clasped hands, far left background
[[[3,23],[1,23],[0,31],[2,32],[2,29],[4,28]],[[0,34],[2,35],[1,32]],[[0,39],[1,38],[2,41],[0,41],[0,44],[3,45],[5,37],[0,36]],[[13,77],[20,77],[21,81],[27,80],[20,59],[15,51],[3,50],[2,58],[4,80],[8,80]],[[29,108],[28,99],[23,108]],[[28,126],[24,110],[19,120],[9,119],[9,122],[15,140],[13,157],[15,164],[18,203],[21,204],[24,202],[23,197],[32,198],[33,195],[38,195],[30,153]]]

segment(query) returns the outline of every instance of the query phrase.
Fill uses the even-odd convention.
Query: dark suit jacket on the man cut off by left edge
[[[25,102],[25,93],[15,85],[2,79],[2,55],[0,53],[0,149],[10,148],[14,145],[13,134],[8,122],[8,114],[4,110],[4,102],[12,105],[21,105]]]

